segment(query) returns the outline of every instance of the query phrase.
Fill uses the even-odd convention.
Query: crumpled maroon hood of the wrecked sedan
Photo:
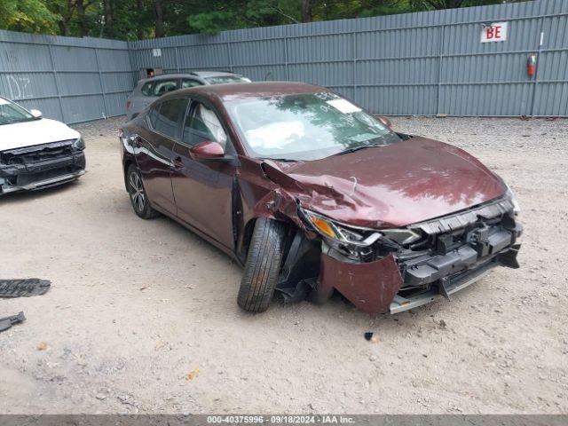
[[[418,137],[314,162],[268,162],[264,170],[305,209],[369,228],[446,216],[507,190],[472,155]]]

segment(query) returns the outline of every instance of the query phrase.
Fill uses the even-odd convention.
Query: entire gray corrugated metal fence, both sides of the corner
[[[480,43],[492,22],[507,41]],[[146,67],[316,83],[378,114],[568,116],[568,0],[130,43],[0,31],[0,94],[65,122],[123,114]]]

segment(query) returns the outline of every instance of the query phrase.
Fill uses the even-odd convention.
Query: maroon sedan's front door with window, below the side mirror
[[[181,141],[174,147],[171,178],[177,217],[202,233],[233,248],[233,164],[193,160],[189,149],[201,142],[218,142],[226,154],[233,145],[213,109],[193,101],[185,116]]]

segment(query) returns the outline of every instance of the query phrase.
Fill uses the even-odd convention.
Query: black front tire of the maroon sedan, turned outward
[[[256,220],[237,304],[248,312],[264,312],[278,284],[285,225],[261,217]]]

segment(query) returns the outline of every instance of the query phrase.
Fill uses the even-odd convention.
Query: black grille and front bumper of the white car
[[[62,185],[83,176],[85,155],[73,142],[0,152],[0,194]]]

